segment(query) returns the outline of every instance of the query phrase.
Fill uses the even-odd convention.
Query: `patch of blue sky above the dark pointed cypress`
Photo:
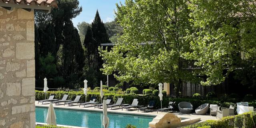
[[[74,26],[77,26],[78,22],[83,21],[91,23],[92,20],[94,20],[97,9],[103,22],[110,22],[114,20],[116,3],[119,4],[120,1],[124,4],[124,0],[79,0],[79,4],[82,6],[83,11],[79,16],[72,20]]]

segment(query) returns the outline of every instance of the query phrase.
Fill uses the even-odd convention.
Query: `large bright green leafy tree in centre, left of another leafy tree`
[[[102,71],[120,82],[170,82],[180,91],[181,81],[196,80],[182,56],[190,50],[188,4],[184,0],[126,0],[117,5],[116,18],[124,34],[110,52],[102,50]],[[145,45],[140,45],[144,43]]]

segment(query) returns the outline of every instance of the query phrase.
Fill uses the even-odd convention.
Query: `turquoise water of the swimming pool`
[[[102,112],[86,110],[70,110],[54,108],[57,124],[78,126],[87,128],[104,128],[102,126]],[[36,107],[36,122],[46,123],[48,108]],[[108,112],[108,128],[125,128],[127,124],[132,124],[137,128],[148,128],[154,116],[140,116],[130,114],[114,114]]]

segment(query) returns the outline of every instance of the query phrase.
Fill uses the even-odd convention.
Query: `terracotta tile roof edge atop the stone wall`
[[[16,4],[26,4],[33,5],[36,4],[38,6],[51,6],[58,8],[56,0],[0,0],[0,2],[4,3],[16,3]]]

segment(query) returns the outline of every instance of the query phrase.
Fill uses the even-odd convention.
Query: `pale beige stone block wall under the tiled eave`
[[[0,128],[34,128],[33,11],[0,7],[0,51]]]

